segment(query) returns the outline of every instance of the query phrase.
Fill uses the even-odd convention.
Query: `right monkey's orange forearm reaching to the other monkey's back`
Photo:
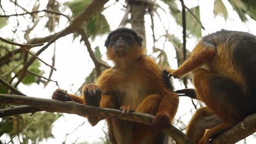
[[[185,61],[181,66],[179,66],[176,70],[166,69],[171,75],[173,75],[174,78],[181,78],[185,74],[189,73],[190,71],[193,71],[196,68],[199,68],[201,65],[205,64],[206,62],[210,61],[215,53],[216,49],[211,46],[198,48],[198,46],[201,46],[198,44],[195,47],[195,51],[192,52],[191,56]],[[196,49],[201,49],[199,51],[196,51]]]

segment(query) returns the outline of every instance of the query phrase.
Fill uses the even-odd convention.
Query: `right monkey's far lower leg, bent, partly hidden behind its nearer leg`
[[[202,139],[206,129],[216,127],[222,122],[222,119],[214,115],[208,107],[200,107],[190,119],[186,134],[197,143]]]

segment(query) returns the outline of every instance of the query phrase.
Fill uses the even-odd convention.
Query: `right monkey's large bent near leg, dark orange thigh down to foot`
[[[202,142],[218,135],[240,121],[245,112],[247,101],[243,88],[231,79],[214,74],[206,69],[194,71],[194,85],[197,98],[202,100],[213,113],[223,119],[224,123],[210,129],[202,138]]]

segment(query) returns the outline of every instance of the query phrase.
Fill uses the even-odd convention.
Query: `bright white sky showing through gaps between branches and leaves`
[[[40,1],[43,3],[43,1]],[[124,2],[124,1],[121,1]],[[110,1],[106,4],[113,4],[114,1]],[[161,2],[159,2],[161,4]],[[184,3],[187,5],[187,7],[191,8],[195,5],[200,5],[200,16],[202,25],[206,28],[206,31],[202,31],[202,35],[206,35],[208,33],[216,32],[222,28],[234,30],[234,31],[245,31],[245,32],[251,32],[252,34],[256,35],[256,22],[249,19],[248,22],[243,23],[239,19],[238,15],[235,13],[234,10],[232,10],[231,5],[229,4],[228,0],[224,0],[224,4],[228,8],[228,14],[229,19],[224,20],[221,16],[214,17],[213,15],[213,0],[209,1],[184,1]],[[20,5],[23,5],[25,7],[28,7],[26,1],[19,2]],[[179,5],[179,8],[181,8],[181,5],[179,1],[177,1],[177,4]],[[9,5],[7,1],[2,1],[2,5]],[[30,4],[31,7],[32,4]],[[43,9],[45,5],[41,5],[40,8]],[[162,5],[163,8],[167,9],[166,5]],[[39,8],[39,9],[40,9]],[[106,16],[110,29],[114,30],[118,27],[123,15],[124,11],[120,10],[122,6],[120,4],[114,5],[107,10],[103,11],[103,14]],[[23,13],[22,10],[18,9],[18,13]],[[65,14],[68,14],[69,11],[65,11]],[[161,10],[159,10],[159,13],[162,13]],[[114,16],[113,16],[114,15]],[[165,16],[164,13],[162,13],[162,16]],[[151,29],[150,29],[150,17],[148,15],[145,16],[146,18],[146,28],[147,28],[147,47],[152,47],[152,39],[149,35],[152,35]],[[19,20],[22,20],[23,17],[20,17]],[[165,17],[165,19],[162,19],[164,22],[166,20],[170,21],[170,33],[175,34],[177,37],[182,39],[182,27],[177,27],[176,22],[174,22],[174,19],[172,17]],[[16,17],[11,17],[8,23],[8,26],[2,28],[0,30],[1,37],[6,37],[4,35],[5,33],[11,34],[11,30],[14,29],[16,26]],[[26,21],[23,21],[26,22]],[[27,22],[26,22],[27,23]],[[67,20],[66,18],[61,16],[60,25],[59,28],[56,29],[56,32],[60,31],[64,27],[66,27]],[[40,22],[39,25],[42,27],[45,23]],[[159,35],[164,34],[164,28],[162,28],[162,25],[160,21],[155,21],[155,27],[157,27],[156,37],[159,37]],[[168,23],[165,23],[165,27],[167,27]],[[20,29],[26,29],[26,25],[21,25]],[[42,27],[38,27],[37,29],[34,29],[34,32],[31,33],[31,37],[45,37],[46,35],[49,35],[49,32],[46,28],[42,29]],[[9,35],[9,38],[11,38],[12,35]],[[15,36],[16,37],[16,36]],[[19,43],[22,43],[24,39],[22,37],[19,37],[20,41],[17,41]],[[104,47],[104,40],[106,39],[106,35],[103,37],[97,37],[96,43],[91,43],[92,47],[100,46],[100,50],[102,53],[105,51]],[[192,50],[193,47],[196,44],[196,39],[191,38],[187,39],[187,47],[189,50]],[[98,42],[100,41],[100,43]],[[156,43],[157,47],[164,47],[164,50],[167,53],[168,61],[171,64],[171,67],[173,69],[177,68],[176,65],[176,59],[174,59],[175,51],[173,49],[173,46],[170,43],[167,43],[164,46],[164,39],[161,39],[160,42]],[[89,56],[89,53],[86,50],[86,47],[84,44],[80,44],[79,39],[75,39],[73,41],[72,34],[67,35],[64,38],[60,38],[56,41],[56,64],[55,68],[57,71],[54,72],[52,79],[59,82],[59,85],[62,89],[66,89],[69,93],[74,93],[77,91],[77,89],[82,85],[84,82],[86,76],[90,73],[92,68],[94,68],[94,64],[91,61],[91,58]],[[33,50],[36,51],[39,48],[34,48]],[[39,57],[42,58],[46,63],[51,63],[51,57],[53,55],[54,50],[54,44],[52,44],[47,50],[45,50]],[[148,54],[152,53],[152,50],[148,50]],[[104,59],[106,59],[106,56],[103,56]],[[49,75],[49,67],[46,67],[44,64],[42,64],[42,67],[40,68],[45,71],[45,76]],[[182,89],[184,88],[181,83],[178,82],[178,80],[174,80],[174,86],[176,89]],[[193,87],[193,86],[189,86]],[[30,86],[24,86],[20,85],[19,89],[21,92],[33,96],[33,97],[39,97],[39,98],[50,98],[52,93],[55,91],[57,87],[55,86],[54,82],[50,82],[48,86],[44,88],[43,84],[40,83],[40,85],[33,84]],[[176,115],[176,118],[183,115],[184,113],[188,113],[190,109],[192,108],[191,100],[188,98],[181,98],[178,113]],[[183,121],[185,124],[188,123],[191,115],[185,115],[183,117]],[[78,127],[78,125],[85,122],[82,127],[79,127],[77,130],[74,131],[75,128]],[[61,143],[65,140],[65,136],[67,133],[73,134],[67,136],[66,143],[72,143],[75,140],[76,142],[93,142],[93,141],[101,141],[100,137],[104,136],[104,133],[102,131],[102,127],[104,126],[104,121],[98,123],[95,127],[91,127],[90,124],[87,122],[86,118],[80,117],[77,115],[69,115],[64,114],[64,117],[59,118],[54,124],[53,127],[53,139],[44,140],[40,143]],[[105,128],[106,129],[106,128]],[[1,140],[7,140],[6,136],[0,137]],[[17,140],[14,140],[15,142],[18,142]],[[248,139],[247,143],[252,143],[252,139]],[[255,141],[254,141],[255,142]],[[239,142],[243,143],[243,141]]]

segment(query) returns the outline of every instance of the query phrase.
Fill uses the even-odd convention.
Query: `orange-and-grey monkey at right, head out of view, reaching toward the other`
[[[256,112],[256,37],[237,31],[206,35],[178,69],[167,69],[174,78],[193,71],[195,93],[177,91],[203,101],[196,110],[187,135],[200,144]],[[208,130],[206,130],[208,129]]]

